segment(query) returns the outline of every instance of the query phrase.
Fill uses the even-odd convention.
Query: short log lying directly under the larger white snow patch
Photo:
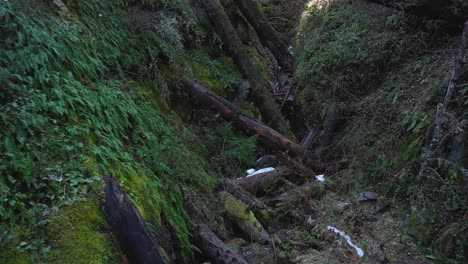
[[[271,188],[281,176],[288,175],[288,173],[289,170],[287,168],[279,167],[273,171],[237,179],[235,183],[253,195],[261,195]]]

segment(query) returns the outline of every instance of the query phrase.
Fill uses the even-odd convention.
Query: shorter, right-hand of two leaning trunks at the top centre
[[[255,0],[236,0],[240,10],[257,32],[260,42],[267,47],[278,64],[285,70],[292,70],[291,56],[286,44],[273,29],[265,16],[260,12]]]

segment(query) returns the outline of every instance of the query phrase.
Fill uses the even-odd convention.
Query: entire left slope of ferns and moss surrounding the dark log
[[[184,49],[200,29],[186,1],[166,2],[145,2],[170,10],[156,31],[136,31],[125,2],[72,1],[71,16],[47,2],[1,2],[0,262],[122,261],[100,208],[109,173],[167,255],[172,230],[188,256],[183,198],[215,181],[207,160],[255,158],[255,138],[222,125],[202,143],[171,111],[181,74],[218,93],[240,77],[226,57]]]

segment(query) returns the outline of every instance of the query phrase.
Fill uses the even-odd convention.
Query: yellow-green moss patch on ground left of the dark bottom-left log
[[[100,189],[104,189],[99,185]],[[122,263],[119,249],[101,211],[103,192],[93,191],[86,201],[55,213],[47,228],[50,263]]]

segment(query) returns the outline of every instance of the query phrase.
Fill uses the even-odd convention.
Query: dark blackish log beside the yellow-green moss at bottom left
[[[104,211],[107,221],[130,263],[165,264],[156,239],[114,176],[106,185]]]

